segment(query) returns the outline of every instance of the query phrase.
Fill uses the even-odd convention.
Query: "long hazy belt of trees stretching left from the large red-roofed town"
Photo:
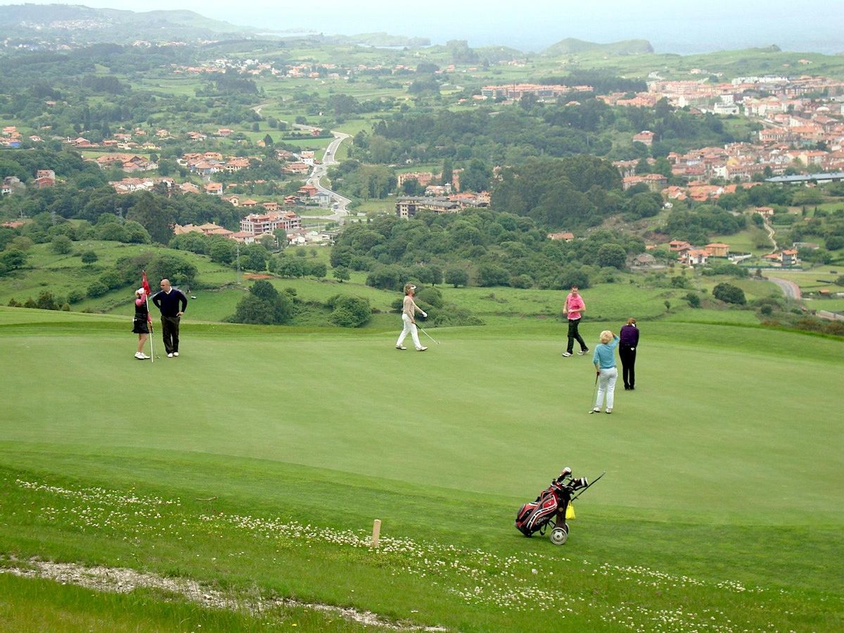
[[[411,89],[423,95],[436,89],[436,80],[425,84],[417,78]],[[622,82],[618,79],[616,83]],[[609,79],[603,84],[609,85]],[[636,84],[636,87],[639,87]],[[368,163],[430,163],[444,158],[479,159],[506,165],[527,157],[564,157],[575,154],[642,158],[646,146],[618,145],[619,133],[635,134],[649,129],[657,135],[650,154],[667,156],[695,147],[722,145],[736,138],[716,116],[676,110],[663,100],[656,108],[609,106],[603,101],[577,95],[576,103],[545,104],[525,95],[518,106],[479,106],[472,111],[424,107],[398,111],[372,127],[367,143],[355,138],[354,158]]]

